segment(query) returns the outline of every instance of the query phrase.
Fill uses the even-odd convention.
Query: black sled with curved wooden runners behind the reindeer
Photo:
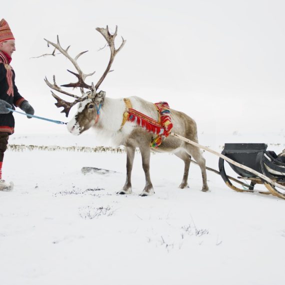
[[[259,173],[267,176],[273,181],[285,185],[285,163],[278,160],[277,155],[273,151],[267,151],[267,144],[265,143],[225,143],[224,149],[221,154],[225,155],[232,160],[250,167]],[[238,182],[242,184],[242,188],[234,186],[229,180],[228,175],[225,173],[224,159],[219,158],[218,167],[219,172],[227,186],[235,191],[253,191],[255,184],[264,184],[269,192],[258,191],[263,194],[273,194],[280,198],[285,199],[284,190],[276,188],[273,184],[261,179],[257,175],[233,165],[228,162],[230,167],[235,173],[238,174],[238,179],[250,180],[250,184]],[[236,180],[236,179],[235,179]]]

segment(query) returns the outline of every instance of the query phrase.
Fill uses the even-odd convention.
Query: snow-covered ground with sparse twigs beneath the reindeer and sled
[[[281,152],[283,134],[200,134],[221,151],[224,142],[265,142]],[[19,135],[10,144],[95,146],[91,134]],[[217,169],[218,157],[204,153]],[[283,284],[285,200],[238,193],[208,172],[210,192],[191,164],[190,188],[179,189],[183,162],[151,155],[155,194],[144,186],[137,153],[132,194],[124,153],[7,150],[0,191],[0,284]],[[111,173],[82,173],[84,166]]]

